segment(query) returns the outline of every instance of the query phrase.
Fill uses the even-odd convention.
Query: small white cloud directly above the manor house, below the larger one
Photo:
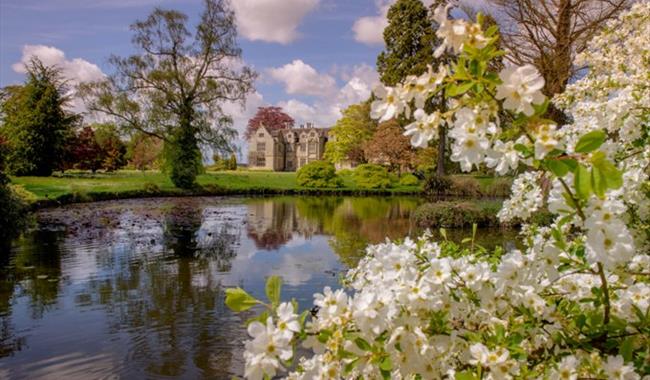
[[[336,92],[334,78],[320,74],[300,59],[282,67],[269,69],[268,73],[274,80],[284,83],[286,92],[291,95],[327,97]]]

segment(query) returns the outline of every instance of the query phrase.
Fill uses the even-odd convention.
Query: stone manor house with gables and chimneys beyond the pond
[[[312,123],[299,128],[269,131],[260,126],[248,139],[248,166],[251,169],[296,171],[323,159],[329,128]]]

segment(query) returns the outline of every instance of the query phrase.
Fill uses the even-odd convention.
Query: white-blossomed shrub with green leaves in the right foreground
[[[287,378],[648,378],[650,3],[610,23],[579,57],[590,70],[555,100],[573,118],[563,126],[543,117],[549,100],[534,67],[490,71],[503,54],[495,27],[447,14],[435,12],[444,41],[436,54],[457,61],[379,88],[372,116],[414,116],[405,134],[415,146],[446,124],[463,170],[519,170],[502,221],[547,207],[553,223],[524,225],[522,251],[427,234],[370,246],[345,277],[350,291],[325,288],[311,317],[279,303],[271,278],[268,311],[249,324],[246,377],[295,368]],[[427,114],[441,92],[448,111]],[[261,303],[241,289],[227,302]],[[296,358],[299,343],[314,354]]]

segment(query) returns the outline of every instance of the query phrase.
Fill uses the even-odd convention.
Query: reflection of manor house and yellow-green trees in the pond
[[[354,265],[368,243],[411,230],[416,198],[292,197],[248,204],[248,236],[260,249],[277,249],[293,232],[304,237],[331,235],[330,246],[347,265]]]

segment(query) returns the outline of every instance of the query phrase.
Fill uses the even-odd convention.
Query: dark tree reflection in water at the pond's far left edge
[[[34,231],[17,240],[18,247],[0,267],[0,357],[20,351],[26,337],[11,323],[12,305],[27,297],[31,317],[43,318],[57,303],[61,277],[62,234]]]

